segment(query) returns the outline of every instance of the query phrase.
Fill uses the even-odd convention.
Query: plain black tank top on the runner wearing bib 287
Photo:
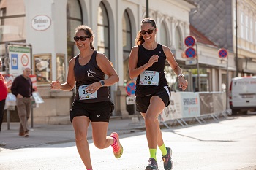
[[[165,60],[166,55],[162,49],[162,45],[157,44],[157,48],[154,50],[147,50],[143,45],[138,46],[138,63],[137,67],[143,66],[145,63],[148,63],[149,58],[152,55],[158,55],[158,62],[154,63],[151,67],[148,67],[148,71],[157,71],[159,72],[159,84],[158,85],[140,85],[140,75],[138,75],[136,80],[136,96],[148,96],[154,95],[160,88],[167,86],[167,81],[165,79]]]

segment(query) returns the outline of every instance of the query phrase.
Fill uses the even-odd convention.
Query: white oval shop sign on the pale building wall
[[[31,26],[37,31],[45,31],[50,27],[51,20],[47,15],[37,15],[31,20]]]

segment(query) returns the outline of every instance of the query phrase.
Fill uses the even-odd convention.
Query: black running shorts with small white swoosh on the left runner
[[[80,103],[74,101],[70,109],[70,121],[77,116],[89,117],[91,122],[109,122],[110,113],[113,112],[112,101],[101,101],[96,103]]]

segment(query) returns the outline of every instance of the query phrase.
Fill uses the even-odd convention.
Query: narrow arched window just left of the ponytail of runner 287
[[[126,85],[129,80],[128,74],[128,58],[129,53],[132,49],[132,27],[129,19],[127,10],[124,11],[122,19],[122,29],[123,29],[123,58],[124,58],[124,85]]]

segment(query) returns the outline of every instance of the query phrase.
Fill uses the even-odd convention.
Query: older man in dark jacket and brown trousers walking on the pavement
[[[32,99],[32,82],[30,79],[31,69],[26,67],[23,74],[15,77],[12,82],[11,91],[16,96],[17,111],[20,117],[19,136],[29,136],[29,115]]]

